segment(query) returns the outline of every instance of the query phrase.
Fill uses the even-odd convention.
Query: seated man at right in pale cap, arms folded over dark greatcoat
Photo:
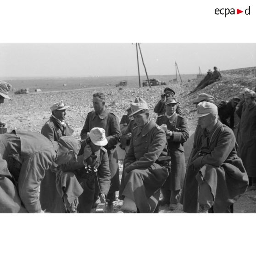
[[[247,189],[248,176],[236,154],[233,131],[218,120],[217,106],[200,102],[197,117],[202,128],[201,145],[187,165],[183,211],[207,213],[213,208],[214,213],[225,213]]]

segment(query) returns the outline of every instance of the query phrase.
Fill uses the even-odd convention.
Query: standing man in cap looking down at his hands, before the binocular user
[[[189,138],[189,131],[186,118],[176,113],[176,100],[169,98],[165,106],[166,114],[158,117],[156,124],[166,132],[172,171],[161,189],[164,200],[159,203],[168,204],[169,209],[174,211],[177,208],[180,189],[184,183],[186,164],[183,144]]]

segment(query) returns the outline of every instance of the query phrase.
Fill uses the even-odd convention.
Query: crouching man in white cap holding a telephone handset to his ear
[[[78,162],[61,165],[56,184],[68,213],[90,213],[94,203],[106,202],[110,169],[105,130],[92,128],[82,141]]]

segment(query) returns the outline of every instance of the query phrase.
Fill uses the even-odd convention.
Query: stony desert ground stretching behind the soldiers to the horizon
[[[184,116],[189,122],[189,131],[192,134],[196,126],[195,109],[192,104],[199,93],[211,94],[216,102],[229,100],[234,96],[240,96],[239,91],[247,87],[256,87],[256,67],[241,68],[235,70],[221,71],[223,79],[215,82],[198,93],[189,94],[196,87],[200,79],[196,75],[182,75],[183,83],[170,83],[168,81],[175,76],[154,76],[152,78],[167,82],[167,85],[139,88],[137,77],[128,77],[126,87],[116,87],[115,84],[126,77],[104,77],[104,78],[17,78],[6,80],[11,83],[14,90],[9,94],[11,101],[5,100],[0,106],[1,122],[6,123],[8,131],[12,129],[23,129],[33,132],[40,132],[44,123],[50,117],[50,106],[57,101],[63,100],[70,108],[67,110],[66,121],[74,129],[74,136],[79,138],[85,118],[90,111],[93,111],[92,94],[103,92],[106,95],[108,109],[117,115],[121,120],[126,114],[129,102],[139,96],[146,100],[150,108],[151,117],[156,120],[157,115],[153,112],[154,106],[160,100],[160,95],[165,87],[171,87],[176,92],[176,99],[181,102]],[[142,77],[142,80],[146,78]],[[188,82],[188,80],[190,80]],[[66,86],[63,86],[66,84]],[[29,88],[30,93],[26,95],[14,95],[14,91],[21,88]],[[42,89],[36,93],[35,89]],[[236,122],[239,122],[236,118]],[[189,152],[186,152],[187,154]],[[119,161],[120,177],[122,174],[122,160]],[[119,209],[122,202],[115,202],[115,211]],[[160,213],[182,213],[182,206],[179,205],[175,211],[168,211],[165,206],[160,207]],[[234,204],[235,213],[256,212],[256,191],[247,191]]]

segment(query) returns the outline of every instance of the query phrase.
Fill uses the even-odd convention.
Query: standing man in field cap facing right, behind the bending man
[[[58,141],[62,136],[71,136],[72,128],[65,122],[66,106],[63,100],[54,103],[51,107],[51,117],[45,123],[41,134],[46,138]],[[40,202],[43,209],[52,213],[64,213],[65,206],[56,188],[57,167],[52,167],[49,172],[45,173],[45,178],[40,185]]]

